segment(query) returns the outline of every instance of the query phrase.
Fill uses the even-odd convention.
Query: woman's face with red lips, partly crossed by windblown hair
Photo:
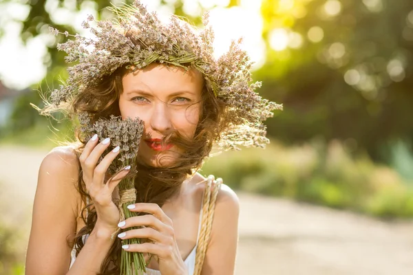
[[[174,131],[190,139],[195,134],[202,107],[202,74],[152,63],[127,74],[122,83],[120,115],[145,122],[138,159],[149,166],[173,162],[184,149],[170,142],[162,146],[160,141]]]

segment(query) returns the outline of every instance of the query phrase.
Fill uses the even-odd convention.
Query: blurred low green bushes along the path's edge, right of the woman
[[[413,188],[388,166],[332,140],[226,152],[204,164],[234,190],[288,197],[378,217],[413,217]]]

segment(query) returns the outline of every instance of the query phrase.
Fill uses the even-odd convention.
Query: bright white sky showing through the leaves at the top
[[[159,0],[142,0],[148,10],[162,14],[172,11],[159,5]],[[73,23],[76,32],[85,34],[81,27],[88,14],[95,15],[94,2],[85,1],[81,12],[72,12],[74,1],[65,1],[64,8],[57,7],[56,0],[48,0],[46,9],[52,14],[56,23]],[[199,14],[193,0],[184,0],[184,11]],[[240,7],[223,8],[229,0],[200,0],[204,8],[210,10],[209,21],[215,32],[214,56],[218,57],[228,50],[231,40],[244,37],[242,47],[255,62],[254,67],[264,63],[265,45],[262,40],[262,19],[260,16],[261,1],[242,0]],[[213,4],[218,8],[211,10]],[[39,83],[46,74],[47,43],[54,40],[51,34],[41,34],[29,39],[23,45],[20,39],[21,23],[29,12],[28,5],[19,3],[0,3],[0,24],[6,26],[6,32],[0,40],[0,80],[11,89],[24,89]],[[248,19],[248,20],[246,20]],[[254,68],[253,67],[253,68]],[[56,76],[57,77],[57,76]]]

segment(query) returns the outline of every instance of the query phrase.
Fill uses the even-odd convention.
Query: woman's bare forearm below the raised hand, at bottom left
[[[96,275],[114,240],[111,232],[95,226],[67,275]]]

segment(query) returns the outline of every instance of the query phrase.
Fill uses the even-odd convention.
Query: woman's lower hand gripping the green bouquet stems
[[[118,234],[120,239],[150,239],[153,243],[123,245],[128,252],[150,253],[158,256],[159,270],[162,275],[188,274],[187,266],[182,261],[172,220],[156,203],[134,203],[128,206],[130,211],[149,213],[143,216],[130,217],[121,221],[120,228],[131,228],[145,225],[145,228],[128,230]],[[145,256],[145,261],[147,261]]]

